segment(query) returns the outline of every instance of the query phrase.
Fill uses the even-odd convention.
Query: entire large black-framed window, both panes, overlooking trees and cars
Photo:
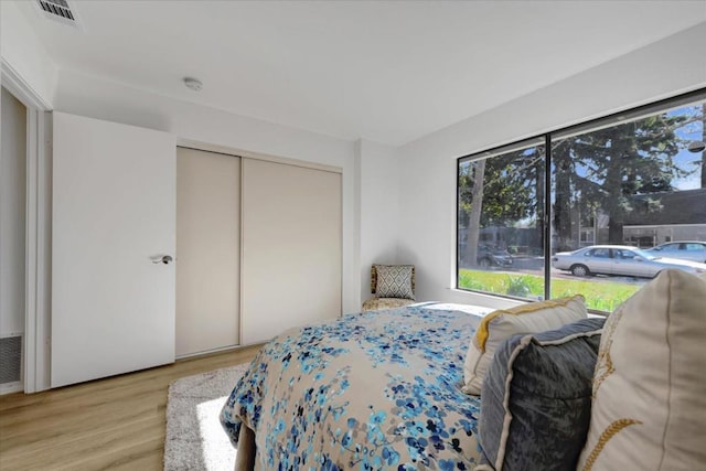
[[[705,96],[459,159],[458,288],[612,311],[663,269],[706,272]]]

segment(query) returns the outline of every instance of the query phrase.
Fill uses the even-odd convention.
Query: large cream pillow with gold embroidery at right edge
[[[706,280],[665,270],[603,328],[578,470],[706,467]]]

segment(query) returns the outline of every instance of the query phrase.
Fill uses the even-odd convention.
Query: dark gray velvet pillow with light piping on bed
[[[515,335],[495,351],[481,389],[482,462],[498,471],[576,469],[605,322]]]

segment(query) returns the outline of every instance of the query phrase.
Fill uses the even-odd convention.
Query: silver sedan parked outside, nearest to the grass
[[[666,268],[695,275],[706,274],[706,264],[657,257],[654,253],[624,245],[592,245],[574,251],[560,251],[552,257],[552,265],[559,270],[569,270],[577,277],[611,275],[653,278]]]

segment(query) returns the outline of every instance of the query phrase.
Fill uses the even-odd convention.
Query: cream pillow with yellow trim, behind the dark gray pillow
[[[461,389],[466,394],[481,394],[495,349],[510,336],[558,329],[587,317],[581,295],[491,312],[483,318],[471,339],[463,366],[464,385]]]

